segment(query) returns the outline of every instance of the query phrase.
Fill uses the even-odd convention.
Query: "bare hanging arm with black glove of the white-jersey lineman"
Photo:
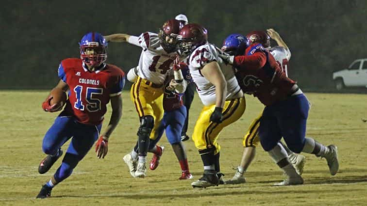
[[[216,87],[216,109],[210,116],[210,121],[220,123],[222,122],[222,110],[227,96],[226,79],[220,70],[219,64],[215,61],[206,64],[200,71],[202,76]]]

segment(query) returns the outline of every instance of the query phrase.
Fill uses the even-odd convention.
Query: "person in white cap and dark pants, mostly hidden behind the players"
[[[188,24],[187,17],[183,14],[177,15],[175,17],[175,19],[181,21],[184,25]],[[195,85],[194,84],[188,84],[187,88],[185,90],[184,96],[183,96],[183,101],[184,101],[184,106],[186,107],[187,116],[186,116],[186,119],[185,119],[184,127],[183,127],[182,132],[181,132],[181,140],[182,141],[186,141],[190,138],[186,134],[186,132],[187,132],[187,127],[188,127],[189,110],[190,110],[190,107],[191,107],[191,103],[194,100],[194,94],[195,94]]]

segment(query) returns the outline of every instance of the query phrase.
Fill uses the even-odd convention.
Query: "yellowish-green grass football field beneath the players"
[[[52,198],[35,199],[41,185],[50,179],[61,159],[47,174],[38,174],[44,154],[42,138],[57,113],[43,112],[41,102],[47,91],[1,91],[0,119],[0,206],[224,206],[224,205],[367,205],[367,95],[307,94],[312,102],[307,136],[326,145],[338,146],[340,170],[330,176],[325,159],[307,157],[304,185],[273,187],[283,179],[282,172],[259,148],[245,174],[248,183],[192,189],[191,180],[179,181],[179,164],[166,138],[160,166],[148,171],[145,179],[134,179],[122,157],[136,141],[138,118],[129,94],[123,93],[123,117],[109,141],[105,159],[98,159],[94,148],[79,163],[74,173],[52,191]],[[195,96],[190,111],[191,134],[201,110]],[[220,134],[221,170],[226,178],[234,174],[233,166],[242,155],[241,140],[263,106],[247,96],[243,117]],[[109,120],[106,115],[105,125]],[[67,149],[68,143],[64,145]],[[202,173],[202,164],[193,142],[185,142],[194,180]],[[149,158],[151,154],[149,155]]]

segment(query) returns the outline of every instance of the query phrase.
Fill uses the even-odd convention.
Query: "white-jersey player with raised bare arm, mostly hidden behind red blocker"
[[[240,35],[240,34],[237,34],[237,35]],[[222,50],[226,52],[232,52],[230,47],[228,45],[226,46],[226,43],[227,44],[232,43],[230,42],[231,40],[230,36],[227,37],[228,40],[226,39],[224,41],[224,45],[222,47]],[[283,41],[283,39],[278,34],[278,32],[276,32],[274,29],[268,29],[267,32],[253,31],[247,34],[246,38],[250,41],[250,44],[261,43],[264,46],[264,48],[269,50],[270,53],[274,56],[275,60],[281,66],[285,74],[286,75],[288,74],[287,68],[288,68],[288,61],[291,57],[291,53],[290,53],[289,48]],[[270,38],[274,39],[277,42],[278,46],[271,48]],[[238,52],[244,52],[244,50],[243,51],[238,50]],[[232,53],[231,55],[236,55],[236,52]],[[262,116],[262,112],[250,124],[249,130],[246,133],[246,135],[244,136],[243,141],[242,141],[242,144],[244,146],[244,151],[243,151],[243,155],[241,158],[241,163],[237,167],[237,171],[234,174],[233,178],[226,181],[226,184],[240,184],[240,183],[246,182],[246,179],[243,176],[243,174],[246,172],[253,158],[255,157],[256,147],[260,143],[258,129],[260,125],[261,116]],[[293,164],[293,166],[295,167],[297,173],[302,174],[305,157],[302,155],[296,155],[292,151],[290,151],[284,144],[283,146],[285,150],[287,151],[288,158],[290,162]]]

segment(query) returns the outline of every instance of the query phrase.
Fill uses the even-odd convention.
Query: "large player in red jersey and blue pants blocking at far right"
[[[279,143],[282,137],[295,153],[305,152],[326,158],[330,174],[335,175],[339,168],[336,146],[324,146],[305,137],[310,104],[296,82],[286,77],[271,53],[261,44],[252,43],[246,48],[245,55],[220,57],[234,66],[241,89],[265,105],[258,131],[260,143],[286,175],[284,181],[275,185],[303,184],[302,177]]]

